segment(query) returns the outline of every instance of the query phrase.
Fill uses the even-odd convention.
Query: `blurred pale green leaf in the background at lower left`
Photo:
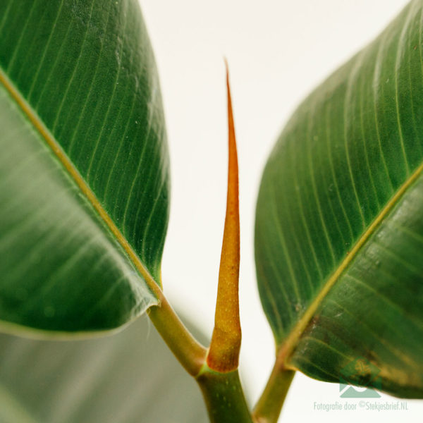
[[[145,318],[85,341],[0,335],[0,362],[2,423],[207,422],[195,380]]]

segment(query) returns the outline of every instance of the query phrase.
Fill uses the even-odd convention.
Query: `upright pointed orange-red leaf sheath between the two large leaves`
[[[228,90],[228,197],[226,200],[226,219],[219,268],[219,286],[217,289],[214,330],[207,355],[207,365],[216,372],[231,372],[237,369],[241,347],[238,301],[238,279],[240,271],[238,157],[235,128],[233,125],[228,63],[226,63],[226,87]]]

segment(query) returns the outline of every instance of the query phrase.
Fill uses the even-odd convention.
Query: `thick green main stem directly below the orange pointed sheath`
[[[204,364],[196,379],[211,423],[252,423],[238,370],[219,373]]]

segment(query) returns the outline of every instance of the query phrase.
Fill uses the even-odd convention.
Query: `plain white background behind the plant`
[[[405,0],[140,0],[159,66],[171,154],[171,220],[164,290],[212,333],[226,202],[227,123],[223,56],[231,85],[240,166],[242,375],[253,402],[274,360],[255,280],[255,201],[263,166],[283,124],[307,92],[375,37]],[[421,422],[408,412],[324,412],[344,403],[338,384],[297,374],[284,422]],[[384,396],[380,403],[395,399]],[[349,400],[357,403],[357,400]]]

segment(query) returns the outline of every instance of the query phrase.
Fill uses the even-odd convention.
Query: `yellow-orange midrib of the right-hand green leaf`
[[[353,262],[353,259],[355,259],[360,249],[364,246],[365,243],[367,243],[367,240],[369,240],[369,238],[376,231],[376,228],[379,227],[379,225],[382,223],[382,221],[384,221],[385,217],[389,214],[389,212],[391,212],[391,210],[396,206],[396,204],[398,204],[400,198],[403,197],[403,195],[405,194],[405,191],[410,188],[412,183],[417,180],[417,178],[422,172],[423,163],[415,169],[415,171],[407,178],[407,180],[405,180],[403,185],[400,185],[400,188],[398,188],[393,197],[391,197],[391,200],[389,200],[388,203],[386,203],[385,207],[381,209],[381,212],[379,212],[374,221],[367,227],[366,231],[364,231],[362,236],[357,240],[350,252],[347,253],[347,256],[343,259],[336,271],[334,271],[333,274],[326,281],[324,286],[321,288],[319,294],[307,307],[304,314],[302,314],[302,317],[298,320],[297,324],[295,324],[293,329],[291,329],[286,340],[280,346],[278,346],[278,350],[276,353],[277,361],[281,363],[284,368],[295,370],[295,367],[290,366],[290,364],[288,364],[288,359],[290,358],[291,353],[293,353],[293,350],[298,344],[298,341],[300,340],[307,325],[309,324],[309,321],[314,316],[314,313],[316,312],[317,308],[319,307],[319,305],[321,305],[321,302],[323,302],[323,300],[326,298],[326,295],[329,293],[329,290],[331,290],[333,285],[335,285],[336,281],[338,281],[343,272],[348,269],[349,264]]]

